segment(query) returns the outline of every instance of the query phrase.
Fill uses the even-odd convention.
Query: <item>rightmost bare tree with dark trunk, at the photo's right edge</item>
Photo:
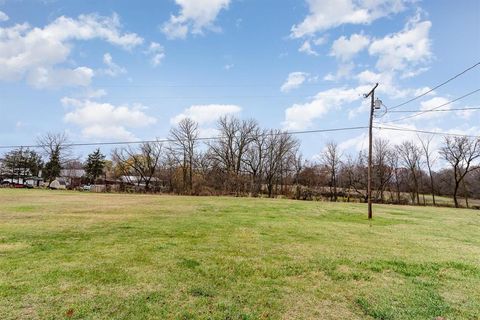
[[[455,181],[453,201],[458,208],[457,195],[460,184],[469,172],[478,169],[474,166],[474,161],[480,158],[480,140],[468,137],[445,137],[440,154],[452,166]]]

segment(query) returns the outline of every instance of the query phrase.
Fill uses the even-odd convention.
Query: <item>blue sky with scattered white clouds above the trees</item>
[[[375,121],[388,122],[409,115],[389,107],[479,61],[478,0],[0,0],[0,146],[62,131],[72,142],[164,138],[185,117],[203,137],[222,115],[289,131],[366,126],[363,94],[376,82]],[[478,88],[480,67],[396,110]],[[442,109],[479,107],[479,97]],[[388,125],[479,135],[480,111],[376,126]],[[366,134],[298,138],[308,159],[330,141],[358,152]]]

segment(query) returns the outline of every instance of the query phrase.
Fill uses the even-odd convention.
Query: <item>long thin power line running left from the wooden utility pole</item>
[[[345,128],[332,128],[332,129],[316,129],[316,130],[304,130],[304,131],[280,131],[273,133],[265,133],[264,136],[275,136],[282,134],[309,134],[309,133],[321,133],[321,132],[337,132],[337,131],[351,131],[359,129],[367,129],[368,127],[345,127]],[[208,140],[218,140],[221,139],[221,136],[216,137],[200,137],[197,138],[197,141],[208,141]],[[154,142],[174,142],[175,139],[156,139],[156,140],[139,140],[139,141],[115,141],[115,142],[86,142],[86,143],[69,143],[66,144],[67,147],[84,147],[84,146],[104,146],[104,145],[128,145],[128,144],[142,144],[142,143],[154,143]],[[45,145],[11,145],[11,146],[0,146],[0,149],[17,149],[17,148],[42,148]]]

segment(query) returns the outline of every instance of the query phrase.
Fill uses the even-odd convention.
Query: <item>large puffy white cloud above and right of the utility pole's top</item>
[[[378,56],[377,69],[403,70],[408,76],[411,71],[406,69],[427,62],[432,57],[431,26],[430,21],[414,19],[402,31],[374,40],[369,53]]]

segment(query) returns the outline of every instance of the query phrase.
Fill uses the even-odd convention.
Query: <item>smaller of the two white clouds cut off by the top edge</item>
[[[175,0],[181,7],[178,15],[171,15],[163,24],[162,32],[170,39],[184,39],[188,33],[203,34],[204,29],[215,30],[214,21],[230,0]]]

